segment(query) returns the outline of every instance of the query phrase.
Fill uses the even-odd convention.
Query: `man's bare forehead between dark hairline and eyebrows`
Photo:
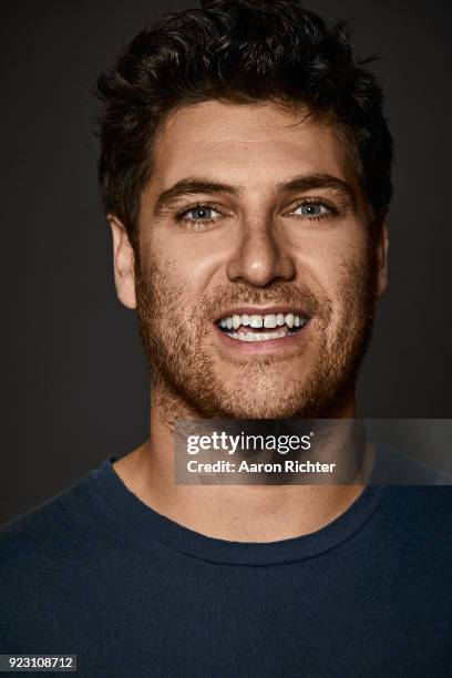
[[[203,176],[253,192],[305,172],[357,183],[338,127],[306,113],[270,103],[183,106],[156,135],[148,189],[160,192],[187,176]]]

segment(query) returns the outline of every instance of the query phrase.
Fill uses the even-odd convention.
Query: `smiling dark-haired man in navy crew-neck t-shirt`
[[[387,286],[376,78],[291,0],[213,0],[99,81],[151,438],[3,528],[0,649],[85,676],[450,676],[450,492],[176,485],[178,420],[356,414]]]

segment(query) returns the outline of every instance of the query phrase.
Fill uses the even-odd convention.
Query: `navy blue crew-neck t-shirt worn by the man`
[[[452,676],[452,489],[368,485],[274,543],[160,515],[106,460],[0,532],[0,654],[99,678]]]

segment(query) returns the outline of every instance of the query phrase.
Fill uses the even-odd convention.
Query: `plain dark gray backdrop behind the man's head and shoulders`
[[[147,432],[134,315],[115,299],[96,189],[96,75],[141,25],[194,0],[1,3],[0,522]],[[377,53],[396,140],[390,288],[361,414],[451,415],[452,3],[312,0]]]

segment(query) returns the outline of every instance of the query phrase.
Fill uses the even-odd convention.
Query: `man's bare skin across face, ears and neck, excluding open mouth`
[[[117,295],[137,310],[152,374],[152,435],[114,470],[145,504],[207,536],[269,542],[319,530],[360,494],[359,483],[175,485],[172,430],[183,418],[355,417],[387,285],[387,229],[372,218],[333,124],[271,103],[170,115],[135,251],[110,217]],[[242,342],[217,327],[237,309],[308,322]]]

